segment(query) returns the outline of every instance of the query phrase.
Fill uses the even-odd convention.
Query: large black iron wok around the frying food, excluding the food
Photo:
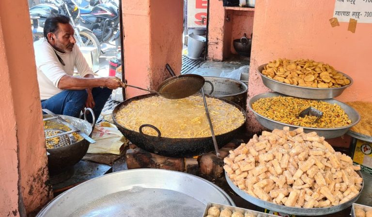
[[[138,101],[138,100],[145,99],[148,97],[153,97],[156,95],[157,94],[145,94],[145,95],[141,95],[141,96],[128,99],[120,103],[119,105],[117,105],[116,108],[112,111],[112,118],[114,120],[115,125],[118,127],[118,129],[123,133],[123,135],[130,142],[154,154],[167,156],[167,157],[173,157],[173,158],[193,157],[193,156],[202,155],[202,154],[215,150],[212,136],[203,137],[203,138],[174,139],[174,138],[162,137],[161,132],[160,132],[160,136],[150,136],[150,135],[145,135],[137,131],[128,130],[124,128],[122,125],[118,124],[118,122],[116,121],[116,114],[121,108],[125,107],[132,101]],[[206,97],[216,98],[218,100],[232,104],[233,106],[237,107],[242,112],[245,118],[244,123],[239,128],[216,136],[218,147],[221,148],[222,146],[230,142],[235,136],[235,134],[241,128],[244,127],[245,122],[247,120],[247,114],[244,109],[242,109],[240,106],[238,106],[237,104],[231,101],[227,101],[225,99],[222,99],[219,97],[213,97],[213,96],[206,96]],[[143,125],[141,127],[143,127]]]

